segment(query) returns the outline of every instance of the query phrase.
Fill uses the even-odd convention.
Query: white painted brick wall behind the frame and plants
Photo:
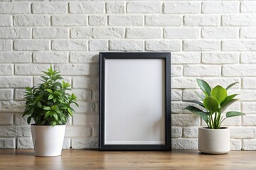
[[[171,52],[172,147],[197,149],[197,115],[182,111],[197,99],[196,78],[227,86],[247,113],[226,120],[231,149],[256,150],[255,1],[1,1],[0,148],[31,148],[24,86],[50,64],[78,96],[63,148],[98,145],[98,52]]]

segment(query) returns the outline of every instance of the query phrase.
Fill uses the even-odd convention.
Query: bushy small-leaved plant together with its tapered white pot
[[[68,94],[71,90],[68,82],[58,80],[59,72],[50,65],[48,72],[42,76],[41,84],[26,87],[26,109],[22,116],[28,116],[35,124],[31,125],[31,133],[36,156],[53,157],[59,156],[63,147],[65,124],[69,116],[73,116],[71,104],[76,103],[75,94]]]

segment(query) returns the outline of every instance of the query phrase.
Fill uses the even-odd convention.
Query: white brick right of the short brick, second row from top
[[[143,16],[108,16],[109,26],[142,26]]]

